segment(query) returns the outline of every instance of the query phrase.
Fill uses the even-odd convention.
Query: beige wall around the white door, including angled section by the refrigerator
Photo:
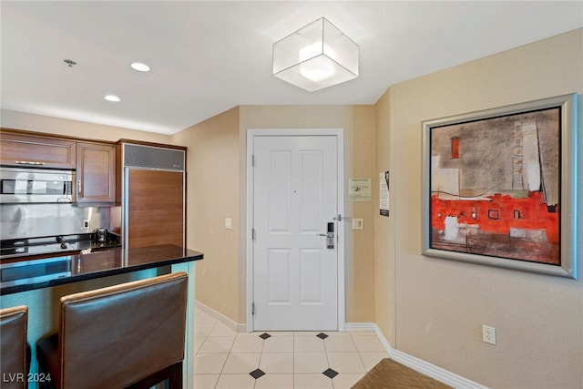
[[[199,302],[246,322],[247,129],[343,128],[346,180],[373,179],[373,120],[373,106],[243,106],[174,136],[189,147],[188,243],[205,254],[197,264]],[[346,202],[345,214],[364,222],[346,233],[348,322],[374,320],[373,210],[373,202]],[[225,230],[226,217],[233,230]]]

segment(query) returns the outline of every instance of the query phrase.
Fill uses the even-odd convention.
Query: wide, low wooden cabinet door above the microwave
[[[0,158],[3,165],[75,169],[75,141],[3,132]]]

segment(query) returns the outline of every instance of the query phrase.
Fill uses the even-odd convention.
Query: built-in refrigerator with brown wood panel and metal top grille
[[[185,247],[186,148],[121,143],[124,247]]]

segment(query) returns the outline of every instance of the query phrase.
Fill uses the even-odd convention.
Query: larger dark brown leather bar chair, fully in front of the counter
[[[36,343],[46,387],[182,388],[184,271],[61,298],[59,333]]]

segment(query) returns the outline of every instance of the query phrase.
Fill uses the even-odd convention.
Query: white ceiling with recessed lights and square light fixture
[[[583,26],[582,1],[0,6],[2,108],[164,134],[238,105],[373,104],[398,82]],[[271,76],[272,44],[322,16],[360,46],[360,76],[312,93]]]

